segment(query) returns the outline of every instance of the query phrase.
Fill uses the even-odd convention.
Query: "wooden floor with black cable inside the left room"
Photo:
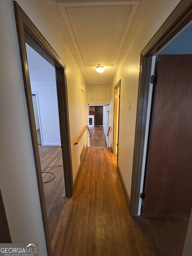
[[[39,154],[41,159],[41,170],[44,168],[62,165],[61,147],[60,146],[41,146],[39,145]],[[61,211],[64,207],[67,197],[64,197],[64,180],[63,180],[63,168],[62,166],[52,167],[44,170],[42,173],[44,183],[45,202],[47,209],[47,218],[49,224],[49,235],[52,240],[57,227]]]

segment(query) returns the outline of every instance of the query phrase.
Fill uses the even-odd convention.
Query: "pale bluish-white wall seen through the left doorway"
[[[39,122],[43,146],[60,146],[55,68],[26,44],[32,91],[38,93]]]

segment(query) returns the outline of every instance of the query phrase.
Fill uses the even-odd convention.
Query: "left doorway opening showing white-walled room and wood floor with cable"
[[[49,236],[52,240],[66,201],[55,68],[28,44],[26,50]]]

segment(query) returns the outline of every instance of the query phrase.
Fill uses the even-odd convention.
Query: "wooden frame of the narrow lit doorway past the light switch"
[[[118,147],[117,147],[117,153],[116,153],[116,133],[117,133],[117,110],[118,110],[118,105],[117,105],[117,92],[118,92],[118,87],[119,87],[119,106],[120,106],[120,91],[121,91],[121,79],[119,82],[115,85],[114,87],[114,115],[113,115],[113,154],[117,154],[118,158]],[[118,111],[119,112],[119,111]],[[118,115],[118,140],[119,140],[119,115]]]

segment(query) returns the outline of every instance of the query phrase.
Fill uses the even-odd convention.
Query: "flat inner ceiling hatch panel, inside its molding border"
[[[113,65],[130,6],[66,8],[85,66]]]

